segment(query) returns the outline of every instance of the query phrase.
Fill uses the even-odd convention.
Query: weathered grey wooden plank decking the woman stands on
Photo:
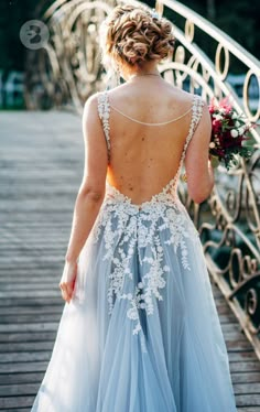
[[[0,123],[0,411],[25,412],[64,306],[58,281],[83,173],[82,126],[58,111],[1,113]],[[214,294],[238,410],[260,412],[260,362],[216,286]]]

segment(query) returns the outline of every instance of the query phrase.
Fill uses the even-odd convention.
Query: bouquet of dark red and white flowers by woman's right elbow
[[[212,116],[212,139],[209,143],[209,155],[213,166],[224,163],[227,170],[237,164],[237,155],[249,159],[251,150],[245,145],[251,124],[242,115],[238,115],[228,99],[216,104],[212,100],[209,107]]]

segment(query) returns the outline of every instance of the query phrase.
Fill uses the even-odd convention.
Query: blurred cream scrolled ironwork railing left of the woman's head
[[[28,108],[68,106],[80,112],[87,97],[104,87],[98,30],[113,4],[56,0],[45,12],[37,10],[50,41],[37,53],[28,51]]]

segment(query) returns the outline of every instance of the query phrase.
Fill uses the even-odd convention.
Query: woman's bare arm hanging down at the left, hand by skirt
[[[106,191],[107,145],[98,117],[97,95],[85,104],[83,112],[85,143],[84,176],[77,194],[72,232],[59,282],[63,299],[69,303],[77,277],[77,259],[98,216]]]

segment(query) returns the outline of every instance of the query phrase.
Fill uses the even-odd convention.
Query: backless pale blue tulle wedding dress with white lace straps
[[[234,412],[226,351],[198,232],[176,175],[136,205],[107,183],[82,250],[32,412]],[[109,140],[109,99],[99,94]]]

